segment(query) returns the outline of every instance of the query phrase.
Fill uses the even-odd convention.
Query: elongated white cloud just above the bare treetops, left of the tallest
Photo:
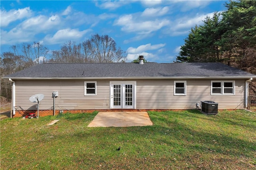
[[[58,30],[52,37],[50,35],[46,35],[44,37],[44,42],[49,44],[58,44],[72,40],[81,39],[86,33],[91,31],[91,29],[86,29],[84,31],[79,31],[78,29],[61,29]]]

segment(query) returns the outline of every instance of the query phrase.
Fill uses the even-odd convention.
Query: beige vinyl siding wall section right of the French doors
[[[235,80],[235,95],[211,95],[211,80],[184,80],[186,96],[174,96],[174,81],[180,80],[138,80],[136,108],[195,109],[204,100],[217,102],[219,109],[244,108],[245,80]]]

